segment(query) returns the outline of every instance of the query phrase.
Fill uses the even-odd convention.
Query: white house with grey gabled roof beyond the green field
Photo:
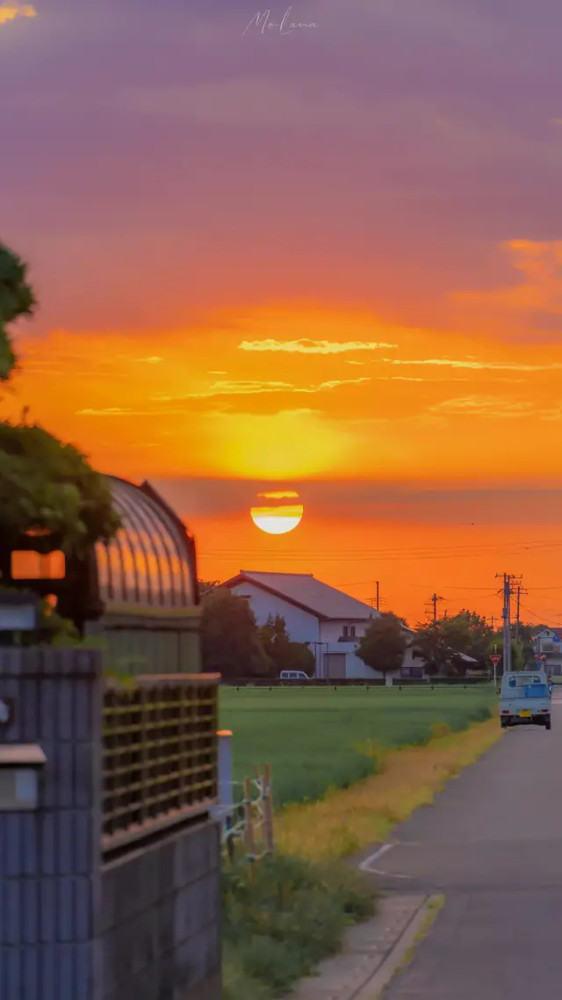
[[[263,625],[269,615],[281,615],[291,640],[305,643],[314,653],[316,677],[373,679],[383,676],[366,666],[355,651],[357,640],[373,618],[380,615],[368,604],[305,573],[241,570],[223,586],[250,602],[258,624]],[[401,675],[421,677],[423,668],[411,645],[415,632],[406,626],[404,632],[409,646]]]

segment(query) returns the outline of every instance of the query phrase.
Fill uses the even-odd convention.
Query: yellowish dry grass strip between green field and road
[[[423,747],[378,751],[378,773],[352,788],[330,789],[318,802],[281,810],[275,824],[279,850],[329,861],[381,843],[501,737],[497,719],[462,733],[450,733],[446,726],[440,733],[434,727],[433,733]],[[377,754],[375,748],[372,752]]]

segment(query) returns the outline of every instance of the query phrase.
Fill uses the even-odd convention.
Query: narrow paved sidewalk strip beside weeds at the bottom
[[[428,896],[383,896],[371,920],[350,928],[344,950],[322,962],[319,975],[303,979],[293,1000],[360,1000],[369,982],[381,972],[396,946],[398,965],[411,941],[408,931],[418,925],[426,910]],[[406,940],[408,938],[408,940]],[[373,994],[377,989],[373,985]],[[371,998],[369,998],[371,1000]]]

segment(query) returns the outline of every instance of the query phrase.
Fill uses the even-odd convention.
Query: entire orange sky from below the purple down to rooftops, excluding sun
[[[506,252],[519,271],[512,284],[452,293],[450,328],[445,315],[413,327],[400,304],[383,320],[302,301],[159,331],[21,328],[23,367],[4,408],[16,417],[29,404],[102,470],[177,480],[171,499],[197,535],[205,576],[314,572],[363,599],[379,579],[382,606],[415,621],[434,590],[442,608],[497,616],[494,575],[506,570],[525,574],[530,620],[562,619],[562,516],[557,494],[542,492],[560,482],[562,345],[529,338],[523,323],[531,307],[562,311],[561,250],[519,242]],[[216,490],[197,502],[209,481]],[[234,481],[242,493],[221,507]],[[339,500],[322,482],[341,483]],[[305,517],[291,535],[252,524],[256,483],[301,492]],[[531,500],[518,493],[525,483]],[[392,493],[408,498],[415,484],[426,507],[437,491],[429,518]]]

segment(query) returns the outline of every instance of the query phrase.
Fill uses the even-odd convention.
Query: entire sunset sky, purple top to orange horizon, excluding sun
[[[150,478],[206,577],[379,580],[415,623],[523,573],[561,625],[558,0],[257,10],[0,0],[0,239],[40,302],[2,411]]]

